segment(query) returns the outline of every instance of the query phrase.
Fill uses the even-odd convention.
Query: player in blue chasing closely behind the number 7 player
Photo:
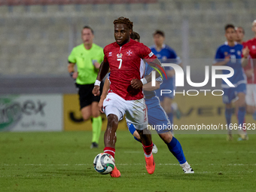
[[[139,42],[140,36],[137,32],[133,32],[132,35],[130,35],[130,38]],[[144,61],[142,60],[142,62]],[[145,76],[150,75],[152,71],[153,69],[150,66],[148,66],[148,63],[146,63],[144,75]],[[110,76],[110,74],[108,74],[108,76]],[[160,84],[162,82],[163,82],[162,78],[159,77],[156,79],[155,87],[151,86],[151,82],[143,85],[145,104],[147,105],[147,108],[148,108],[148,124],[152,126],[163,125],[163,124],[165,124],[166,126],[171,125],[169,118],[166,115],[166,112],[161,107],[160,101],[154,91],[160,88]],[[102,111],[103,101],[108,94],[109,86],[110,86],[110,81],[106,79],[103,90],[102,90],[102,96],[99,101],[100,111]],[[134,139],[136,139],[136,141],[138,142],[142,142],[142,139],[139,136],[139,133],[137,132],[133,123],[127,123],[127,126],[130,133],[132,133],[132,135],[134,136]],[[186,158],[184,157],[184,153],[181,148],[180,142],[178,142],[178,140],[172,136],[172,133],[169,130],[157,130],[157,133],[160,136],[160,138],[163,139],[163,142],[166,143],[167,147],[169,148],[169,151],[176,157],[184,173],[194,173],[194,170],[190,167],[190,165],[187,163]],[[155,148],[155,151],[157,151],[157,148]],[[152,152],[154,153],[154,151]]]

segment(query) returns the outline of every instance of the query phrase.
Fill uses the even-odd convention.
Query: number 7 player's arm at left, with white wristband
[[[95,84],[94,84],[94,88],[93,88],[93,92],[92,92],[94,96],[99,96],[99,93],[100,93],[99,85],[100,85],[100,82],[105,77],[105,75],[108,73],[108,69],[109,69],[109,63],[103,61],[99,67],[99,73],[98,73],[98,76],[97,76]]]

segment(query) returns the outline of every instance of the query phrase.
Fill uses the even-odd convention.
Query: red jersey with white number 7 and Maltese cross
[[[131,81],[134,78],[141,79],[144,74],[145,63],[141,63],[141,59],[153,60],[157,59],[157,56],[150,48],[133,39],[122,47],[116,42],[108,44],[104,48],[104,54],[104,61],[109,63],[111,72],[108,93],[116,93],[125,100],[142,99],[142,88],[133,89]]]

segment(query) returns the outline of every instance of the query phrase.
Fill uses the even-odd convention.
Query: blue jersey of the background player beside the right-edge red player
[[[225,66],[233,68],[234,75],[228,80],[236,87],[239,84],[246,84],[245,73],[242,69],[242,44],[235,44],[235,46],[230,47],[227,42],[218,47],[215,55],[215,62],[224,61],[226,56],[230,56],[230,61],[227,62]],[[222,70],[223,74],[230,74],[228,70]],[[229,86],[225,81],[222,80],[222,87],[228,88]]]

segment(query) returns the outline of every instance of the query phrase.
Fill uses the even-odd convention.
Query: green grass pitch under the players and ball
[[[225,135],[176,135],[195,173],[185,175],[157,135],[156,169],[148,175],[142,145],[117,132],[120,178],[99,175],[91,132],[0,133],[0,191],[255,191],[256,135],[227,142]]]

